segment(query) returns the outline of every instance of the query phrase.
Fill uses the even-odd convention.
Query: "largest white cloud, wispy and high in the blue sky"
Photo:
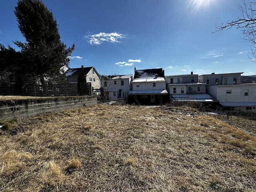
[[[117,32],[114,32],[114,33],[100,32],[99,34],[86,36],[86,38],[90,39],[89,42],[91,45],[100,45],[104,41],[111,42],[111,43],[120,43],[119,39],[125,38],[125,35],[119,34]]]

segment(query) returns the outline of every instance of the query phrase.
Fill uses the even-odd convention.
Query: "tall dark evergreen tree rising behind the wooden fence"
[[[23,67],[44,84],[45,78],[61,76],[74,50],[61,42],[58,24],[52,11],[41,0],[18,0],[14,14],[26,42],[14,42],[23,55]]]

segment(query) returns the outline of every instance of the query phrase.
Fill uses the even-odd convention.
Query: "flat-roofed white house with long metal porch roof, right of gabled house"
[[[199,83],[198,75],[193,72],[185,75],[165,76],[165,79],[171,102],[200,102],[213,108],[218,102],[206,94],[206,83]]]

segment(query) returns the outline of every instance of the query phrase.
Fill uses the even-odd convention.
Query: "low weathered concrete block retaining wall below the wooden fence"
[[[0,101],[0,120],[22,119],[45,112],[58,112],[69,108],[90,106],[96,103],[96,96]]]

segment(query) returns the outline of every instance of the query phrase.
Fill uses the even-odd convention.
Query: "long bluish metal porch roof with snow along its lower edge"
[[[172,94],[173,101],[218,102],[208,94]]]

